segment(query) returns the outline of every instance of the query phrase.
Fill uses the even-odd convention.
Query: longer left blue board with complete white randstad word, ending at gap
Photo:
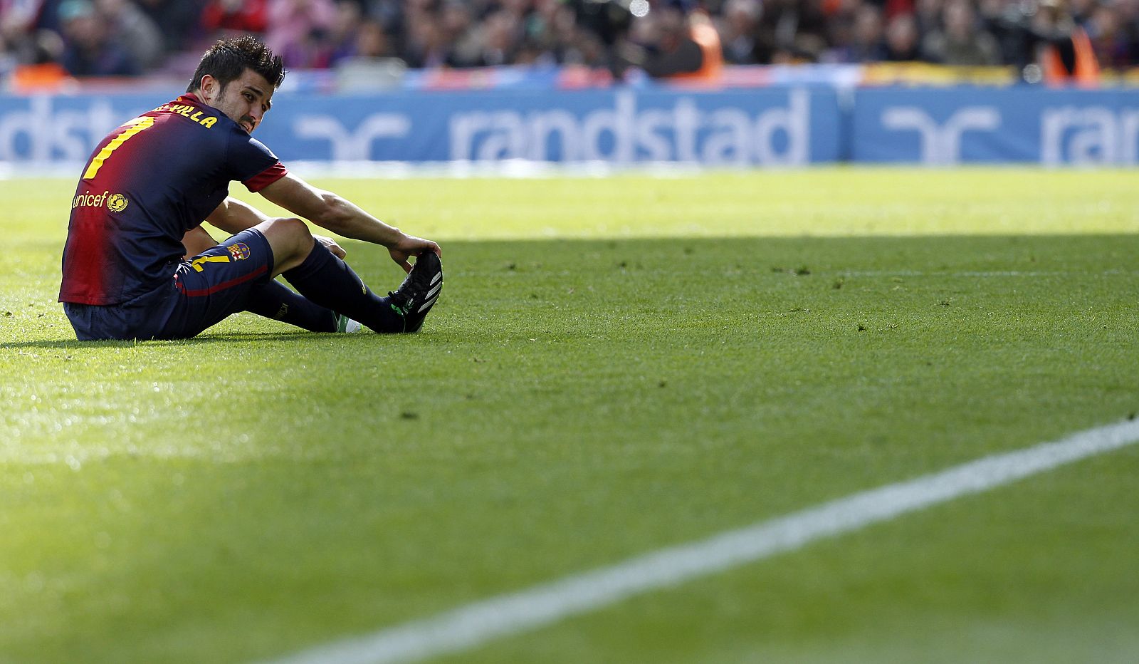
[[[83,161],[118,123],[167,100],[0,97],[0,161]],[[797,167],[837,160],[839,127],[837,95],[826,87],[282,92],[255,136],[286,163],[524,159]]]

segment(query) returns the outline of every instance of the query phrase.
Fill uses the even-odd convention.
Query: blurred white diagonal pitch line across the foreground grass
[[[278,659],[277,664],[415,662],[474,648],[554,624],[636,594],[800,549],[964,495],[981,493],[1139,442],[1139,421],[1107,424],[1062,440],[994,454],[838,499],[818,507],[661,549],[510,594],[346,638]]]

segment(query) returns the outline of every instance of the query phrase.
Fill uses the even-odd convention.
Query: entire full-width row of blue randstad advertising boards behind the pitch
[[[0,165],[80,163],[177,96],[0,96]],[[1139,163],[1139,91],[829,86],[688,91],[279,92],[255,135],[290,161],[802,167]]]

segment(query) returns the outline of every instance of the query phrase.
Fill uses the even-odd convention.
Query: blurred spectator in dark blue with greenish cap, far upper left
[[[133,76],[139,63],[124,47],[110,40],[110,26],[89,0],[67,0],[59,6],[64,31],[63,65],[73,76]]]

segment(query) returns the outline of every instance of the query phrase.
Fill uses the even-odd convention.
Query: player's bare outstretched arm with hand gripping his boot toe
[[[387,248],[392,260],[405,272],[411,270],[408,258],[424,251],[440,254],[439,245],[429,240],[408,235],[376,219],[355,204],[323,189],[318,189],[301,178],[288,173],[259,192],[269,201],[321,228],[354,240],[363,240]]]

